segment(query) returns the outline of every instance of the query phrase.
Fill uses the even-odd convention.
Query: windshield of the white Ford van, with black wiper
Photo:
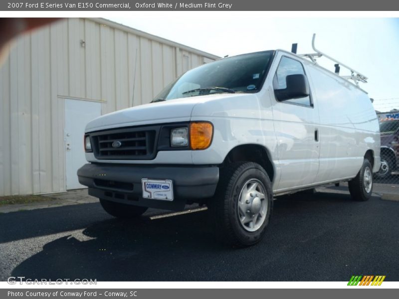
[[[243,54],[204,64],[183,74],[153,102],[215,93],[253,93],[262,87],[273,51]]]

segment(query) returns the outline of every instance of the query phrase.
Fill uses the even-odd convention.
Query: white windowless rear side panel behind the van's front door
[[[367,94],[318,66],[308,66],[308,74],[320,115],[318,181],[355,177],[368,149],[379,164],[380,130]]]

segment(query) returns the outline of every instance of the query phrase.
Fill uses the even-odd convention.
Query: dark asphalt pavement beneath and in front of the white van
[[[151,213],[151,212],[150,212]],[[99,203],[0,214],[0,280],[399,281],[399,201],[355,202],[345,188],[274,202],[264,239],[232,249],[207,211],[118,220]]]

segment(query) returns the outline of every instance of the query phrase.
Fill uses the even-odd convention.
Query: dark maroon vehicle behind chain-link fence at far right
[[[399,166],[399,119],[381,121],[380,133],[381,167],[376,176],[386,178]]]

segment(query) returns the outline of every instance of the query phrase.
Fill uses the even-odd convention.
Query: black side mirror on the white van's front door
[[[305,75],[295,74],[285,77],[287,87],[274,90],[274,95],[279,101],[298,99],[309,96],[309,82]]]

